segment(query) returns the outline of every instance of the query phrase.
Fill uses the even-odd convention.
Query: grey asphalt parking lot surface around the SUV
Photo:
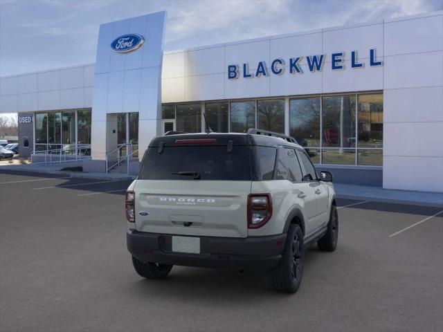
[[[287,295],[264,273],[138,277],[127,185],[0,172],[1,331],[443,331],[443,208],[339,199],[337,250],[309,249]]]

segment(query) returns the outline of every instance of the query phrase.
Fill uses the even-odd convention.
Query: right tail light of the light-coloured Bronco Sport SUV
[[[248,228],[260,228],[272,216],[271,194],[248,195]]]

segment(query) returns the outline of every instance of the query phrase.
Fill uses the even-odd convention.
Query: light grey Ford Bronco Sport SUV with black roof
[[[338,239],[332,174],[318,176],[293,138],[257,129],[154,138],[125,210],[134,268],[151,279],[174,265],[257,268],[293,293],[305,248]]]

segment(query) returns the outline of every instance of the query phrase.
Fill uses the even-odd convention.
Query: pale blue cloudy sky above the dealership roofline
[[[443,0],[0,0],[0,76],[95,62],[100,24],[168,11],[165,50],[443,9]]]

